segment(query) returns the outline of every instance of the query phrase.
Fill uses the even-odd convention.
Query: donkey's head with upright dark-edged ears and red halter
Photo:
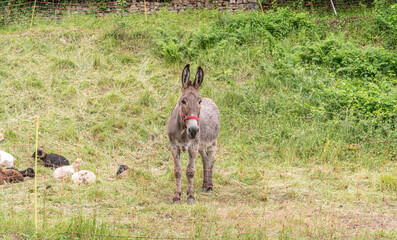
[[[179,106],[181,106],[183,127],[187,130],[188,137],[194,139],[200,131],[199,121],[202,98],[199,94],[199,88],[203,83],[203,69],[201,67],[197,68],[193,83],[189,78],[190,69],[189,64],[187,64],[182,72],[182,95],[179,98]]]

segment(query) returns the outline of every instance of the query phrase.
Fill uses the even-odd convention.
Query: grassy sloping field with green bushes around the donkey
[[[393,9],[357,19],[288,9],[66,15],[3,27],[1,149],[32,166],[39,116],[39,145],[82,158],[98,177],[73,185],[39,165],[37,238],[395,238]],[[186,63],[203,67],[201,95],[222,123],[215,193],[199,191],[198,159],[197,203],[183,194],[173,205],[165,129]],[[119,164],[133,169],[127,178],[114,177]],[[0,236],[35,237],[34,182],[0,188]]]

